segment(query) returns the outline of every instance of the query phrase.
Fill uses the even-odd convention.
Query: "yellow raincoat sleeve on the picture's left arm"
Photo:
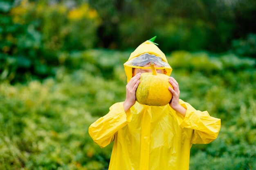
[[[90,136],[101,148],[110,144],[115,138],[115,133],[132,119],[130,109],[125,112],[123,103],[112,105],[108,114],[96,120],[89,127]]]

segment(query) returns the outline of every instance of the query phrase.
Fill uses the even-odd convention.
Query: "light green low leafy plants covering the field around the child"
[[[1,83],[0,169],[107,169],[112,144],[101,149],[88,127],[125,99],[123,63],[129,54],[62,52],[66,67],[59,67],[54,78]],[[255,169],[255,59],[186,51],[166,56],[180,98],[222,120],[215,141],[192,146],[190,169]]]

